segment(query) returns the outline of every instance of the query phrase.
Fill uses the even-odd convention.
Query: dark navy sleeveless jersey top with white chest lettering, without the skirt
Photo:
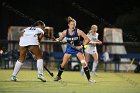
[[[74,46],[80,46],[80,36],[78,36],[77,28],[74,29],[74,33],[70,35],[69,29],[66,32],[66,40],[67,43],[72,44]]]

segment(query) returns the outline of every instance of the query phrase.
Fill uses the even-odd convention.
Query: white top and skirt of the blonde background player
[[[95,33],[94,35],[92,33],[87,34],[87,37],[90,39],[91,42],[95,42],[96,40],[98,40],[98,36],[98,33]],[[89,54],[94,54],[95,52],[97,52],[96,45],[88,44],[85,52]]]

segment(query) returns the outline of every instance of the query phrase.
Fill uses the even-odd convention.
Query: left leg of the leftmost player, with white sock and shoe
[[[14,67],[14,71],[13,71],[13,74],[12,74],[12,77],[11,77],[12,81],[16,81],[17,80],[16,75],[18,74],[21,66],[23,65],[23,62],[25,60],[28,48],[20,46],[19,50],[20,50],[20,56],[19,56],[19,59],[17,60],[17,62],[15,64],[15,67]]]

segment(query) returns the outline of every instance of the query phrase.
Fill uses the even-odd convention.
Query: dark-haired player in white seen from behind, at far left
[[[37,60],[37,69],[38,69],[38,79],[43,82],[46,80],[43,77],[43,54],[39,47],[39,41],[44,35],[45,23],[42,21],[35,22],[31,27],[24,29],[21,32],[21,37],[19,41],[20,46],[20,56],[17,60],[13,74],[11,76],[12,81],[17,81],[17,74],[25,61],[26,53],[30,51]]]

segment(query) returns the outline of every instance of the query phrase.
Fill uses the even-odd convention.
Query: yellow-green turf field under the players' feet
[[[135,73],[98,72],[98,77],[92,76],[95,84],[87,82],[80,72],[65,71],[62,81],[54,82],[44,71],[45,83],[36,79],[37,71],[22,69],[19,82],[10,81],[11,73],[0,70],[0,93],[140,93],[140,74]]]

